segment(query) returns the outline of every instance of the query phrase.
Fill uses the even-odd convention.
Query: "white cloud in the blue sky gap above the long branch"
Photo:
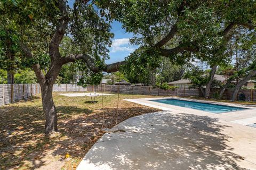
[[[129,38],[114,39],[111,48],[112,53],[134,51],[134,48],[129,47]]]

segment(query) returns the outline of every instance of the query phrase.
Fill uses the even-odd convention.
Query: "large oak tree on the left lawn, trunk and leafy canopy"
[[[41,86],[46,134],[58,130],[52,87],[62,65],[82,60],[93,72],[110,73],[122,64],[104,63],[113,33],[110,24],[98,15],[92,3],[75,1],[73,7],[62,0],[1,3],[2,15],[17,25],[22,59],[34,70]],[[60,48],[65,35],[73,38],[72,43],[78,50],[62,56]]]

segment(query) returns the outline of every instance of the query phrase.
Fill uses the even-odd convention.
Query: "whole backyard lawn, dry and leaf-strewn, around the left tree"
[[[153,96],[120,95],[118,123],[129,117],[156,112],[155,108],[122,99]],[[101,130],[116,121],[117,95],[101,96],[91,104],[90,97],[66,97],[53,93],[58,110],[59,135],[44,135],[45,116],[41,95],[29,101],[0,107],[0,169],[75,169],[92,145],[105,133]]]

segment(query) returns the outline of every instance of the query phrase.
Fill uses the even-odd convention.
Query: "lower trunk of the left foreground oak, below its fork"
[[[45,134],[51,134],[58,130],[57,111],[52,98],[52,84],[42,84],[42,103],[45,114]]]

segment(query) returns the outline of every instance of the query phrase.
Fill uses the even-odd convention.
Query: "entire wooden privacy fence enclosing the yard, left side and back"
[[[75,84],[54,84],[53,91],[58,92],[84,92],[94,91],[101,92],[100,86],[88,86],[83,88],[75,86]],[[211,89],[210,96],[214,98],[214,94],[219,89]],[[103,92],[117,93],[117,85],[102,85]],[[159,88],[152,88],[150,86],[119,86],[121,94],[133,95],[153,95],[153,96],[177,96],[177,97],[202,97],[199,89],[179,88],[174,90],[163,90]],[[227,89],[223,94],[222,99],[229,100],[232,95],[233,89]],[[246,96],[246,100],[256,101],[256,89],[241,89]],[[41,87],[39,84],[0,84],[0,106],[13,103],[20,99],[28,98],[30,96],[40,94]]]

